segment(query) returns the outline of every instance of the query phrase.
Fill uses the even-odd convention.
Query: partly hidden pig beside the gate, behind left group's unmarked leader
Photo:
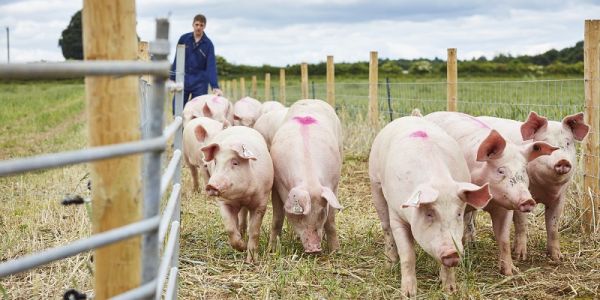
[[[192,186],[194,191],[199,191],[198,170],[204,183],[210,177],[208,166],[204,162],[204,155],[200,150],[217,133],[223,130],[225,125],[207,117],[198,117],[190,120],[183,128],[183,161],[192,174]]]

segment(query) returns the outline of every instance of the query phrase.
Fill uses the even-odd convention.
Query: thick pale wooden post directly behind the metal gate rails
[[[85,60],[135,60],[135,1],[83,2]],[[85,78],[89,146],[140,140],[138,76]],[[90,163],[92,232],[139,221],[142,216],[141,155]],[[94,251],[94,298],[107,299],[141,282],[141,239],[130,238]]]

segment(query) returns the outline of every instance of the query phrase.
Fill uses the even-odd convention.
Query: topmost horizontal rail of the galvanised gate
[[[60,79],[83,76],[150,74],[166,78],[167,61],[68,61],[60,63],[0,64],[0,79]]]

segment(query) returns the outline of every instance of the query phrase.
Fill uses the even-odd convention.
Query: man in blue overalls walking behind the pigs
[[[183,106],[190,98],[208,93],[210,84],[215,95],[222,95],[217,79],[217,60],[212,41],[204,34],[206,17],[194,17],[193,32],[179,38],[177,44],[185,45],[185,84],[183,89]],[[171,65],[171,80],[175,80],[175,60]],[[190,97],[191,96],[191,97]],[[173,97],[175,112],[175,97]]]

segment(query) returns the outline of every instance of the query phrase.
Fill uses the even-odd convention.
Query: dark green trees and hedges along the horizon
[[[67,28],[63,30],[58,41],[65,59],[83,59],[83,41],[81,30],[81,11],[71,17]],[[288,76],[300,76],[300,63],[293,65],[250,66],[232,64],[224,57],[217,55],[218,73],[221,78],[233,78],[256,74],[279,74],[284,68]],[[327,63],[325,61],[308,64],[311,76],[325,76]],[[335,64],[336,76],[364,76],[369,72],[367,61],[338,62]],[[458,72],[461,76],[545,76],[545,75],[583,75],[583,41],[573,47],[562,50],[548,50],[538,55],[499,54],[492,59],[485,56],[460,60]],[[379,73],[389,77],[415,77],[446,75],[446,61],[440,58],[428,59],[379,59]]]

